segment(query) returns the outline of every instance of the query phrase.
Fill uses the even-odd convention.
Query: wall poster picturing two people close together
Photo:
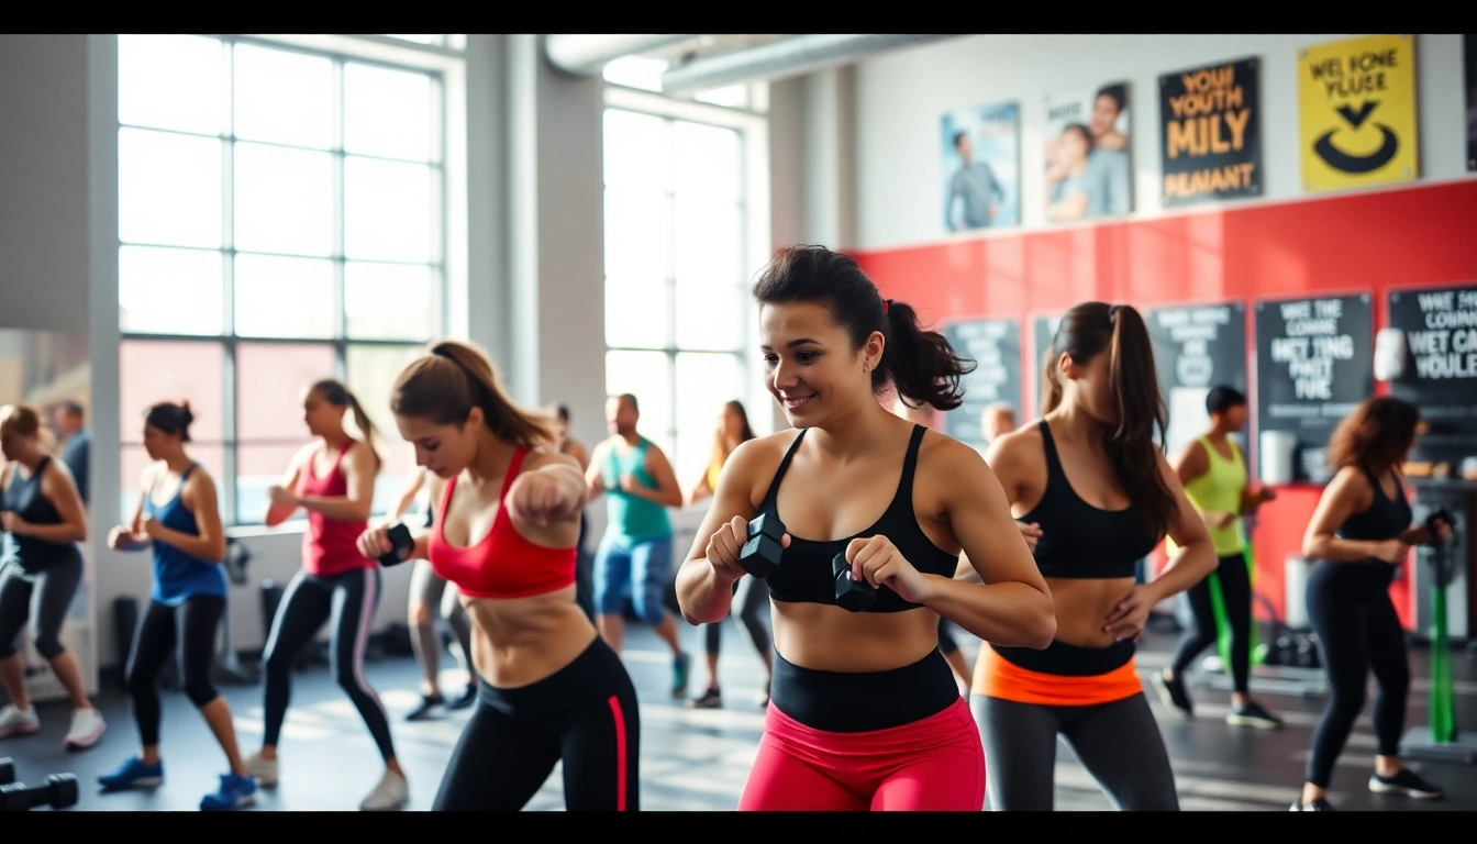
[[[1128,83],[1046,98],[1046,219],[1131,211],[1128,151]]]

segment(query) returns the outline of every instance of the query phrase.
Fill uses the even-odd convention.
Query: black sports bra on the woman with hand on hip
[[[1047,578],[1131,578],[1162,537],[1151,535],[1133,507],[1099,510],[1078,498],[1066,482],[1056,440],[1046,420],[1038,423],[1046,446],[1046,491],[1041,501],[1019,522],[1041,526],[1035,541],[1035,565]]]

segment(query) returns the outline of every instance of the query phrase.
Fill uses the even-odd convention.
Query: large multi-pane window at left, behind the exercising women
[[[301,390],[325,377],[381,435],[377,513],[394,500],[414,455],[390,384],[445,330],[443,109],[443,80],[425,69],[120,35],[124,516],[148,461],[143,409],[189,399],[226,522],[260,523],[307,442]]]

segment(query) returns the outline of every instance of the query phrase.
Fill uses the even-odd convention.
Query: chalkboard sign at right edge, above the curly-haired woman
[[[1430,426],[1411,460],[1449,463],[1455,477],[1477,457],[1477,285],[1391,293],[1390,327],[1406,347],[1390,395],[1421,408]]]

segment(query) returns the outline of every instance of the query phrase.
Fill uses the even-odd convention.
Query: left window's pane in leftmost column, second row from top
[[[222,142],[118,130],[118,238],[220,248]]]

